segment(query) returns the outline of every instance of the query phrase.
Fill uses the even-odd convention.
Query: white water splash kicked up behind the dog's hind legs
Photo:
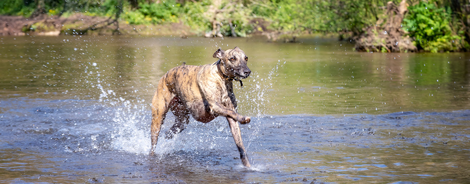
[[[126,151],[135,154],[147,154],[150,150],[149,135],[149,114],[150,109],[145,105],[145,100],[140,97],[139,90],[126,91],[119,93],[111,88],[106,78],[100,74],[100,65],[89,63],[85,70],[86,83],[97,89],[97,101],[95,106],[102,106],[101,123],[109,124],[111,130],[102,132],[106,135],[92,135],[91,147],[96,147],[98,136],[107,137],[110,141],[110,147],[118,151]],[[135,97],[132,100],[126,99],[126,96]],[[92,107],[94,109],[95,107]],[[93,113],[93,112],[92,112]],[[106,128],[108,129],[108,128]]]

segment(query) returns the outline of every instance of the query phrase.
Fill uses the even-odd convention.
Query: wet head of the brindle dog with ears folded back
[[[246,66],[248,57],[238,47],[226,51],[219,49],[212,57],[220,59],[228,76],[246,78],[251,74],[251,70]]]

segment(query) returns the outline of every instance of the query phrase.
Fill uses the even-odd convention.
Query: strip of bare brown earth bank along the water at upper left
[[[59,35],[155,35],[188,37],[190,28],[181,23],[130,25],[109,17],[80,13],[69,17],[41,15],[34,18],[0,15],[0,36]]]

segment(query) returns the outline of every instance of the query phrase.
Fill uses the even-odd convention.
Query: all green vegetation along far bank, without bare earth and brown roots
[[[105,17],[123,30],[179,25],[181,35],[247,37],[338,34],[354,42],[386,18],[387,0],[3,0],[0,14]],[[399,0],[392,0],[395,4]],[[419,50],[470,50],[470,2],[407,0],[401,25]],[[112,23],[111,23],[112,22]],[[173,26],[174,27],[174,26]],[[161,30],[160,28],[160,30]],[[116,27],[114,29],[117,29]],[[137,32],[139,29],[137,29]],[[174,32],[168,29],[169,32]],[[93,31],[93,30],[87,30]],[[122,31],[121,31],[122,32]],[[282,39],[284,40],[284,39]],[[292,39],[291,39],[292,41]]]

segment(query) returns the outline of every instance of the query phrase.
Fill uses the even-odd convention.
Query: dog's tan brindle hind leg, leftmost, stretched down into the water
[[[164,77],[162,77],[158,82],[157,91],[152,99],[152,125],[150,127],[150,139],[152,145],[150,148],[150,155],[154,154],[161,126],[165,120],[166,113],[168,112],[171,99],[174,97],[175,95],[170,92],[164,82]]]

